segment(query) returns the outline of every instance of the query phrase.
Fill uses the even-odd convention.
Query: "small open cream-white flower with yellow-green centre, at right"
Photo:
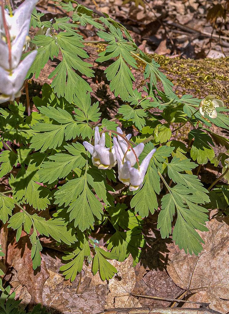
[[[216,99],[215,97],[215,95],[208,95],[201,100],[199,105],[199,112],[202,116],[206,114],[213,119],[217,117],[217,111],[215,108],[223,107],[224,104],[222,100]]]

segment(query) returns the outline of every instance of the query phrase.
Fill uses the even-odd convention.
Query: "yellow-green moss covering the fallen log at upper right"
[[[97,47],[99,52],[106,49],[102,44]],[[226,105],[229,103],[229,57],[193,60],[157,54],[148,56],[160,64],[160,70],[173,82],[177,95],[191,94],[204,98],[206,95],[214,94],[224,100]],[[136,61],[139,70],[143,72],[144,62],[137,58]]]

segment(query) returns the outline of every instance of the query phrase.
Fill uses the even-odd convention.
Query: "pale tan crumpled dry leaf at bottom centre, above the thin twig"
[[[109,280],[107,295],[107,308],[112,307],[141,307],[139,301],[130,295],[136,284],[136,276],[132,266],[133,258],[130,255],[124,262],[112,260],[110,262],[116,267],[117,276]]]

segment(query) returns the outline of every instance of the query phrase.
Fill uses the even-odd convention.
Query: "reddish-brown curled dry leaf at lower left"
[[[17,278],[25,286],[35,303],[42,303],[43,287],[49,277],[46,264],[41,259],[41,267],[34,271],[31,260],[31,243],[29,236],[22,231],[18,243],[13,242],[8,246],[7,263],[17,272]]]

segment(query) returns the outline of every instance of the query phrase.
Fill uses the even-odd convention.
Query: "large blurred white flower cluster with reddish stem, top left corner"
[[[3,15],[0,10],[0,103],[14,100],[21,95],[25,77],[31,67],[36,51],[32,51],[20,62],[22,51],[28,37],[31,13],[37,0],[25,0],[16,10],[9,14],[4,11],[10,37],[11,58],[9,59],[8,38],[6,36]]]

